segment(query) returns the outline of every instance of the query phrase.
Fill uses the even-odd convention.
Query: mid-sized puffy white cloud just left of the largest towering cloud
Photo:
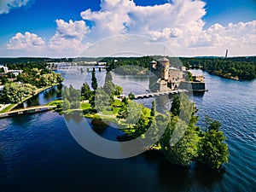
[[[83,48],[84,35],[89,28],[84,20],[73,21],[56,20],[57,30],[49,39],[49,48],[55,50],[79,51]]]

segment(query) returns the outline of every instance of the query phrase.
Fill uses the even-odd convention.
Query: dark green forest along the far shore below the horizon
[[[252,80],[256,78],[256,56],[242,57],[169,57],[166,56],[172,67],[201,68],[208,73],[227,79]],[[158,60],[160,55],[147,55],[142,57],[105,57],[105,58],[0,58],[0,64],[9,69],[38,68],[46,70],[47,62],[72,61],[104,61],[108,63],[109,70],[117,68],[117,73],[140,73],[137,66],[148,69],[150,61]]]

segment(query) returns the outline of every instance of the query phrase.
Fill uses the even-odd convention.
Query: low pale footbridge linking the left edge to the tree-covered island
[[[57,107],[56,106],[38,106],[38,107],[31,107],[31,108],[20,108],[20,109],[6,112],[6,113],[0,113],[0,119],[13,117],[20,114],[31,114],[31,113],[49,111],[53,108],[57,108]]]

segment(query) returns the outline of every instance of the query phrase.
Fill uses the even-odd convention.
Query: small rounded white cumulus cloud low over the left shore
[[[44,47],[44,44],[44,40],[34,33],[25,32],[25,34],[23,35],[22,33],[17,32],[16,35],[9,40],[9,44],[7,44],[7,49],[24,49],[32,51],[42,49]]]

